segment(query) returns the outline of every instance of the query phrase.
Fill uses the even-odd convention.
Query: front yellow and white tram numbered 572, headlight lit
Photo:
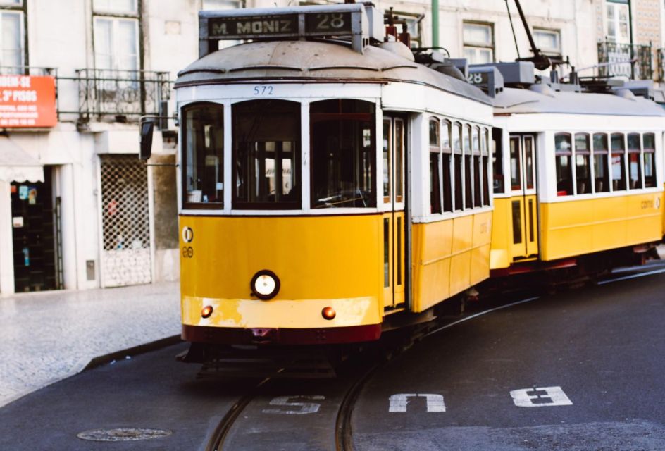
[[[480,89],[384,42],[369,5],[199,22],[175,83],[185,340],[376,340],[489,276]]]

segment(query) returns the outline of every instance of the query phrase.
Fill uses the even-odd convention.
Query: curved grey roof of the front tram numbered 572
[[[178,73],[175,87],[249,80],[410,82],[491,105],[477,87],[403,56],[368,46],[323,41],[261,41],[238,44],[200,58]]]

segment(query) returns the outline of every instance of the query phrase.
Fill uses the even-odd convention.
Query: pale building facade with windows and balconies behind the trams
[[[159,166],[146,166],[139,118],[173,116],[173,80],[197,58],[198,11],[292,4],[0,0],[0,295],[178,278],[178,124],[157,119]],[[412,45],[432,45],[430,1],[375,4],[405,21]],[[522,4],[540,49],[580,75],[597,71],[602,42],[649,42],[654,58],[663,47],[659,0]],[[509,8],[440,0],[440,47],[470,63],[530,56]]]

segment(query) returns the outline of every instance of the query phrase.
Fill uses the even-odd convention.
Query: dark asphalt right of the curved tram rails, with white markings
[[[430,336],[366,385],[356,449],[665,450],[664,288],[621,280]],[[418,396],[390,412],[399,394]]]

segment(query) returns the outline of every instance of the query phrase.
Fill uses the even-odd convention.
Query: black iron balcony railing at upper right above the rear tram
[[[653,75],[651,45],[598,43],[598,75],[625,75],[633,80],[650,80]]]

